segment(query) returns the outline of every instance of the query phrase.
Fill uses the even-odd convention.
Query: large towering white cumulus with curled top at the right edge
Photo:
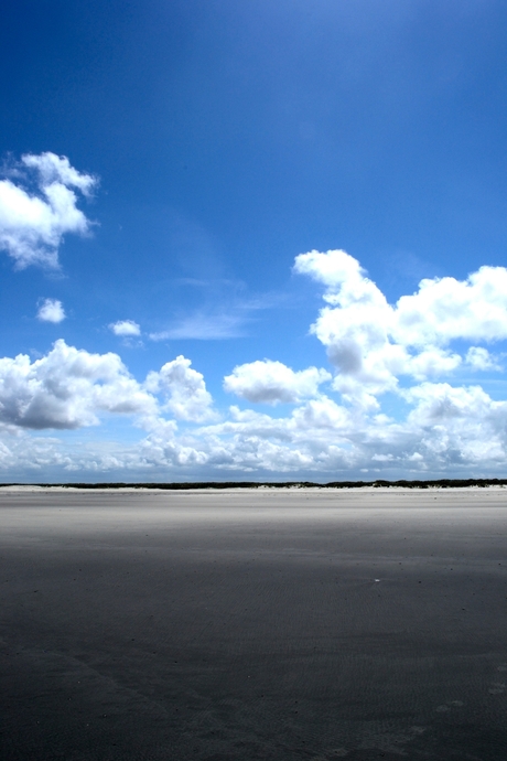
[[[348,400],[378,406],[376,397],[397,390],[401,376],[422,380],[447,375],[464,360],[476,369],[486,364],[493,369],[495,362],[484,347],[464,358],[450,344],[507,337],[504,267],[481,267],[464,281],[424,279],[416,293],[396,304],[388,303],[346,251],[301,254],[294,269],[325,286],[328,306],[311,330],[336,367],[334,387]]]

